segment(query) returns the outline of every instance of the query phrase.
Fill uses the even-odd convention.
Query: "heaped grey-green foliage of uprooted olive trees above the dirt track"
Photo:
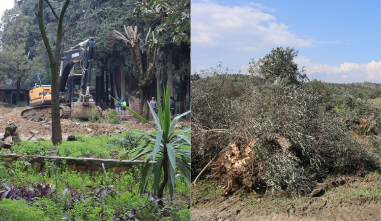
[[[279,62],[273,62],[267,65],[277,70],[272,66]],[[375,129],[380,127],[380,107],[346,97],[343,113],[336,112],[330,108],[334,98],[327,97],[325,89],[317,80],[291,83],[283,76],[265,79],[216,69],[194,77],[192,176],[229,143],[250,139],[255,140],[256,158],[248,172],[271,190],[308,194],[327,174],[380,169],[380,135]],[[372,133],[366,142],[352,136],[361,117],[368,122],[361,130]],[[290,146],[281,146],[274,137],[287,139]],[[218,175],[224,177],[223,172]]]

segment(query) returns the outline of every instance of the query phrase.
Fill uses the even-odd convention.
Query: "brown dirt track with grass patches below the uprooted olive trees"
[[[331,177],[319,184],[320,197],[295,197],[238,189],[221,196],[223,183],[204,180],[191,188],[191,220],[380,221],[380,181],[377,174]]]

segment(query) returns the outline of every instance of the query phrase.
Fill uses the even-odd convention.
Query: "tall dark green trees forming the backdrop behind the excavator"
[[[49,4],[47,3],[49,2]],[[168,83],[170,95],[178,103],[179,114],[189,110],[190,97],[190,0],[55,0],[43,3],[44,24],[50,46],[55,52],[57,16],[64,2],[61,52],[94,36],[96,55],[91,83],[95,86],[98,106],[114,108],[110,97],[147,98],[160,94]],[[51,10],[51,9],[54,10]],[[51,84],[50,64],[35,15],[38,1],[15,1],[4,12],[0,22],[0,81],[21,83],[31,89],[37,74],[43,84]],[[148,32],[155,34],[147,44],[139,45],[142,69],[134,65],[135,57],[128,45],[113,36],[113,30],[124,33],[123,26],[137,27],[139,42]],[[156,51],[155,62],[149,51]],[[151,53],[151,58],[153,53]],[[153,68],[148,75],[152,63]],[[78,72],[80,70],[74,70]],[[143,73],[141,73],[143,72]],[[17,96],[20,101],[20,95]],[[145,109],[147,107],[144,107]]]

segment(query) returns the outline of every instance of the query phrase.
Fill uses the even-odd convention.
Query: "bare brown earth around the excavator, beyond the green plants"
[[[21,117],[21,112],[26,108],[0,108],[0,133],[4,133],[5,127],[9,124],[15,124],[18,126],[19,136],[22,140],[28,139],[32,134],[30,130],[34,129],[39,131],[39,134],[30,140],[37,138],[51,139],[52,130],[50,122],[48,121],[29,121],[26,118]],[[128,120],[123,120],[119,124],[100,124],[100,123],[75,123],[71,119],[61,119],[62,139],[66,139],[69,135],[77,134],[91,134],[96,133],[103,129],[104,131],[110,131],[113,133],[130,131],[132,129],[139,129],[143,131],[152,130],[150,125],[136,124],[137,118],[130,117]],[[153,122],[152,122],[153,123]],[[189,123],[186,120],[180,120],[178,124]]]

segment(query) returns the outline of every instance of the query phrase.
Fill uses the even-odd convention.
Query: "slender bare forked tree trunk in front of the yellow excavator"
[[[65,15],[70,0],[65,0],[63,2],[59,15],[56,13],[49,0],[45,1],[49,5],[58,22],[56,44],[54,45],[54,50],[52,50],[44,24],[44,0],[38,0],[38,9],[37,12],[35,12],[35,15],[37,16],[38,28],[40,29],[41,37],[49,58],[50,78],[52,85],[52,141],[54,145],[57,145],[62,140],[61,123],[59,118],[59,53],[63,46],[62,36],[64,35],[67,28],[69,28],[67,25],[62,29],[62,23],[63,16]]]

